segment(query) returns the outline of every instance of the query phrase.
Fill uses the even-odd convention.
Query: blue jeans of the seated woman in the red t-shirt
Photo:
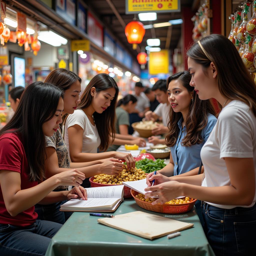
[[[51,238],[61,226],[45,220],[36,220],[28,227],[0,224],[0,255],[45,255]]]

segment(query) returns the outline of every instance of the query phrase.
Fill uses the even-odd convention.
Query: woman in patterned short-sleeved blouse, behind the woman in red
[[[81,91],[81,78],[67,69],[58,68],[53,70],[45,79],[45,82],[52,83],[63,91],[63,115],[74,113],[80,102],[79,94]],[[51,177],[57,173],[65,172],[71,168],[76,168],[84,173],[87,178],[107,173],[109,175],[118,175],[122,170],[122,163],[117,159],[103,159],[86,163],[70,163],[67,146],[57,127],[52,136],[46,137],[46,177]],[[66,191],[67,186],[56,187],[54,191]],[[63,224],[72,212],[60,211],[60,205],[66,200],[60,200],[50,205],[36,205],[35,211],[38,219],[49,220]]]

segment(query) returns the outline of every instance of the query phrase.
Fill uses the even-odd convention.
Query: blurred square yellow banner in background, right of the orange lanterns
[[[169,51],[150,52],[148,70],[151,75],[169,73]]]

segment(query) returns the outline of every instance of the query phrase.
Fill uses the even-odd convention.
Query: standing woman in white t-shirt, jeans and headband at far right
[[[202,200],[204,230],[215,254],[253,255],[256,87],[236,48],[224,36],[201,39],[187,55],[190,85],[199,98],[215,98],[222,105],[201,150],[205,178],[204,174],[171,179],[152,175],[150,180],[155,179],[158,185],[147,196],[159,197],[152,204],[163,204],[179,195]]]

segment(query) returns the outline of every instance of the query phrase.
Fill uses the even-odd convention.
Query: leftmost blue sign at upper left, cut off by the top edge
[[[56,0],[56,13],[72,25],[76,25],[76,0]]]

